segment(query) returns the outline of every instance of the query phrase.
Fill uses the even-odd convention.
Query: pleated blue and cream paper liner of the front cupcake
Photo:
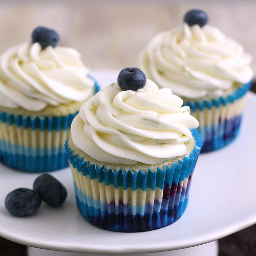
[[[90,223],[108,230],[140,232],[168,226],[177,221],[188,203],[191,177],[202,147],[197,131],[196,145],[179,164],[146,173],[89,165],[65,144],[69,157],[77,207]]]

